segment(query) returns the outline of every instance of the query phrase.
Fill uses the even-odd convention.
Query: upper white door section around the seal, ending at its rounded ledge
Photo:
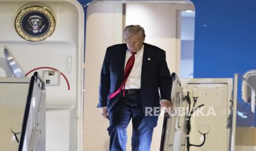
[[[32,43],[21,38],[14,28],[15,16],[24,5],[32,1],[0,1],[0,57],[7,45],[24,69],[25,73],[38,67],[56,68],[67,77],[61,78],[61,86],[47,89],[46,105],[51,107],[73,107],[81,89],[81,67],[83,63],[83,11],[76,1],[33,1],[46,5],[56,18],[56,30],[47,40]],[[68,73],[68,57],[73,60],[72,73]],[[47,70],[47,69],[45,69]],[[42,77],[42,69],[38,70]],[[32,73],[28,76],[31,77]],[[58,95],[57,95],[58,94]]]

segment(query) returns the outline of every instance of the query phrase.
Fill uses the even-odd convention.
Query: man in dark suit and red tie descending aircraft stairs
[[[126,150],[132,119],[132,150],[149,151],[161,107],[170,109],[171,75],[165,51],[144,43],[139,25],[124,28],[126,44],[108,47],[101,69],[98,108],[110,120],[110,150]],[[160,90],[160,95],[159,95]],[[160,138],[159,138],[160,139]]]

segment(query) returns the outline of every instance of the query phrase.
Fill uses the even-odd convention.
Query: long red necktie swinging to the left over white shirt
[[[120,88],[116,91],[113,92],[109,98],[115,97],[122,89],[124,90],[126,86],[126,81],[128,79],[128,76],[130,74],[130,71],[132,71],[133,65],[134,65],[134,60],[135,60],[135,54],[132,53],[132,56],[129,57],[127,63],[126,63],[126,68],[124,69],[124,75],[123,75],[123,83],[121,84]],[[123,96],[124,96],[124,91],[123,91]]]

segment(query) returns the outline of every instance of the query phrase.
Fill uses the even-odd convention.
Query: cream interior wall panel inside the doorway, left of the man
[[[120,3],[94,3],[88,7],[83,150],[109,150],[109,123],[96,106],[99,102],[100,70],[106,48],[122,43],[122,20],[123,9]]]

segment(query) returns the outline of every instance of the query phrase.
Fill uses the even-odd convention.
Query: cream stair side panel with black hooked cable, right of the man
[[[190,92],[193,107],[193,88],[198,88],[199,97],[195,107],[203,107],[193,113],[191,118],[190,144],[199,145],[203,135],[198,132],[201,124],[208,124],[210,132],[202,147],[191,146],[190,150],[228,150],[229,132],[227,118],[230,115],[232,79],[181,79],[183,88]]]

